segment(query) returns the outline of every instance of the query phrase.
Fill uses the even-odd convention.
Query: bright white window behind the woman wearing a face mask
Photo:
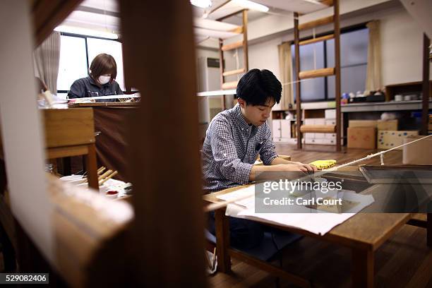
[[[110,54],[116,60],[116,82],[119,83],[121,90],[125,90],[121,42],[68,33],[61,33],[60,40],[59,76],[57,78],[59,97],[66,97],[75,80],[88,76],[88,68],[92,60],[101,53]]]

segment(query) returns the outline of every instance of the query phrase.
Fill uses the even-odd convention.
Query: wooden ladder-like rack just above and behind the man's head
[[[235,13],[229,14],[229,15],[224,16],[222,18],[219,18],[217,20],[222,21],[226,18],[232,17],[232,16],[239,14],[239,13],[241,13],[243,16],[243,21],[242,21],[243,25],[240,28],[238,28],[236,31],[232,31],[232,32],[239,32],[239,34],[243,35],[243,39],[240,41],[234,42],[234,43],[230,43],[230,44],[224,44],[223,40],[221,38],[219,39],[220,85],[221,85],[222,90],[235,89],[237,87],[237,83],[238,83],[238,81],[225,82],[225,77],[238,75],[241,73],[246,73],[248,71],[248,29],[247,29],[247,27],[248,27],[248,11],[247,11],[247,9],[237,11]],[[240,47],[243,48],[244,67],[236,69],[236,70],[225,71],[225,69],[224,69],[225,68],[224,67],[224,52],[232,50],[232,49],[237,49]],[[224,102],[224,109],[225,109],[225,102]]]

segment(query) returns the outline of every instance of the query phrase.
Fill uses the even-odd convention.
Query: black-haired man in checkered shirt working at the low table
[[[238,104],[210,122],[203,144],[204,191],[212,193],[256,180],[260,172],[313,172],[316,167],[277,156],[267,119],[279,103],[282,85],[268,70],[252,69],[237,85]],[[254,166],[260,155],[263,166]],[[233,246],[252,248],[260,244],[262,225],[230,217]],[[210,213],[209,230],[214,234]]]

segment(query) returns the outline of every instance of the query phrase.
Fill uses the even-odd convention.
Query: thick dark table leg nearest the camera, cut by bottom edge
[[[352,249],[352,287],[373,287],[373,251]]]

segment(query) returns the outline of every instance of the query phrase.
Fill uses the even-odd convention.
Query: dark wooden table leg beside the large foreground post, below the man
[[[231,271],[229,258],[229,220],[225,216],[225,208],[215,210],[217,270],[227,273]]]

